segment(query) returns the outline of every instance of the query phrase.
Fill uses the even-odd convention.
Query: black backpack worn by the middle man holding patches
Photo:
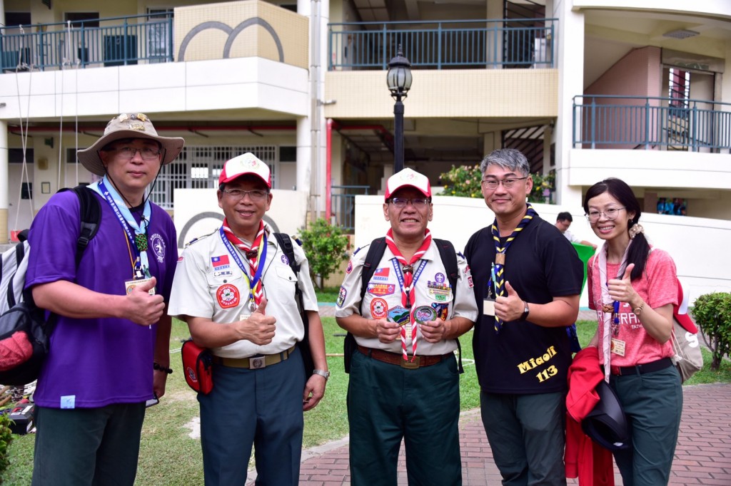
[[[446,239],[433,238],[431,241],[436,243],[436,247],[439,250],[439,257],[442,258],[442,265],[444,265],[444,270],[447,272],[447,279],[452,286],[452,300],[454,300],[455,296],[457,295],[457,279],[459,278],[459,269],[457,266],[457,255],[455,252],[455,247],[454,245],[452,245],[452,242],[449,242]],[[363,273],[360,276],[361,306],[363,305],[363,297],[366,296],[366,287],[368,286],[368,282],[371,281],[371,277],[373,277],[373,274],[376,271],[376,266],[381,261],[381,258],[383,258],[383,253],[385,251],[385,237],[374,239],[371,242],[371,245],[368,247],[366,261],[363,262]],[[363,315],[362,309],[360,311],[360,315]],[[464,369],[462,367],[462,347],[459,344],[459,339],[457,339],[457,348],[460,355],[459,372],[464,373]],[[350,360],[352,359],[353,352],[355,352],[355,350],[357,350],[355,336],[353,336],[352,333],[347,333],[345,335],[345,342],[343,345],[344,366],[346,373],[350,373]]]

